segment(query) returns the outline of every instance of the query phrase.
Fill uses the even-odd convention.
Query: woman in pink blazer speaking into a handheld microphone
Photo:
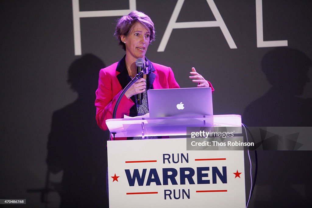
[[[138,58],[145,59],[152,72],[137,80],[127,90],[119,103],[116,118],[148,113],[146,97],[148,89],[179,88],[170,67],[152,63],[145,57],[149,44],[155,39],[154,23],[149,16],[143,12],[130,12],[118,20],[114,35],[119,39],[119,45],[126,51],[126,55],[119,62],[100,70],[95,106],[96,121],[103,130],[107,130],[105,120],[112,118],[122,89],[137,74],[135,61]],[[212,88],[210,82],[198,74],[194,67],[190,74],[189,78],[198,83],[197,87]],[[139,93],[144,93],[141,105],[136,104],[136,95]]]

